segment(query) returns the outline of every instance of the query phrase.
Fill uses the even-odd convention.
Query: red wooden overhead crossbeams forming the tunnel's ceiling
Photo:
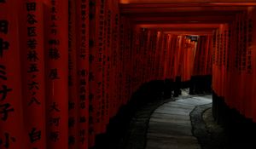
[[[121,15],[145,28],[209,32],[230,23],[256,0],[119,0]]]

